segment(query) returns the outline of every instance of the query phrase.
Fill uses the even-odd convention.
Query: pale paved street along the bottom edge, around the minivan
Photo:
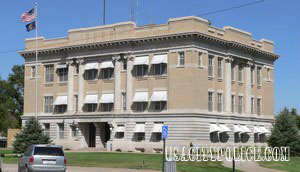
[[[16,164],[4,164],[3,172],[17,172],[18,166]],[[117,169],[117,168],[94,168],[94,167],[68,167],[68,172],[155,172],[152,170],[131,170],[131,169]]]

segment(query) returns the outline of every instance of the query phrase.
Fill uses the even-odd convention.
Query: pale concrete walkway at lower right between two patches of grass
[[[232,161],[227,161],[224,158],[222,162],[225,167],[232,168]],[[261,167],[255,161],[236,161],[235,168],[245,172],[283,172],[281,170]]]

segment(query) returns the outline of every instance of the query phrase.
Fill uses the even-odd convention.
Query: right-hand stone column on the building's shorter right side
[[[247,62],[246,64],[246,78],[245,78],[245,113],[251,114],[251,66],[253,64],[251,62]]]

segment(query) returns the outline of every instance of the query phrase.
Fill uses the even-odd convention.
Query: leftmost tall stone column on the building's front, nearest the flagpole
[[[74,62],[69,60],[68,64],[68,113],[74,112]]]

